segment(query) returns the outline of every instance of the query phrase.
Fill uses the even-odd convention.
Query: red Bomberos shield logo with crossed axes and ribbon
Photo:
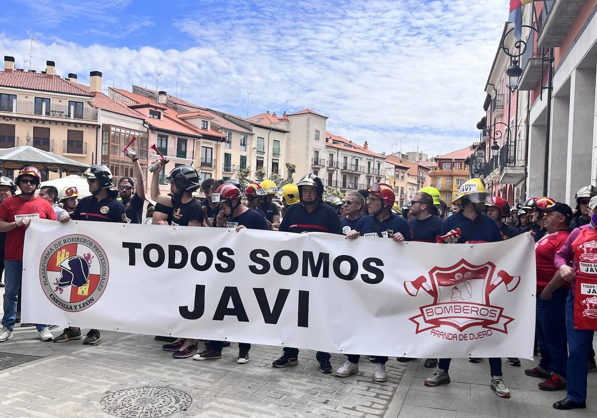
[[[421,306],[420,315],[409,318],[417,325],[416,334],[442,325],[464,331],[481,326],[507,334],[507,324],[514,319],[503,315],[501,306],[490,303],[490,294],[502,283],[511,292],[518,287],[520,276],[510,276],[501,270],[494,276],[496,265],[472,265],[464,259],[447,268],[429,271],[429,280],[419,276],[404,282],[410,296],[422,289],[433,297],[433,303]]]

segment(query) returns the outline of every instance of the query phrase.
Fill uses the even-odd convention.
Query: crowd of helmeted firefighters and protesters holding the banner
[[[306,174],[296,184],[276,186],[271,180],[242,185],[238,180],[207,179],[200,182],[199,173],[189,165],[174,168],[165,182],[170,193],[159,188],[161,161],[156,161],[150,183],[151,200],[146,217],[145,184],[137,155],[128,150],[134,163],[135,179],[121,177],[114,182],[105,165],[91,165],[83,176],[91,196],[79,198],[75,186],[57,190],[41,187],[41,173],[35,167],[24,167],[16,179],[0,179],[0,248],[4,270],[4,316],[0,342],[13,338],[20,302],[23,243],[27,226],[34,218],[92,222],[128,222],[152,225],[195,226],[203,228],[279,230],[305,233],[325,232],[345,235],[390,238],[396,245],[403,241],[498,242],[520,233],[530,232],[536,241],[537,308],[536,340],[540,361],[525,374],[541,379],[538,388],[544,391],[566,390],[567,395],[555,402],[556,409],[584,408],[586,405],[587,372],[595,371],[592,349],[593,331],[578,329],[574,322],[574,285],[576,278],[590,276],[579,266],[577,248],[584,242],[597,241],[597,188],[578,190],[576,208],[556,202],[547,196],[529,199],[512,210],[506,200],[491,196],[481,179],[469,179],[454,196],[451,213],[433,187],[419,190],[407,207],[399,207],[392,188],[373,183],[366,190],[350,191],[343,196],[324,198],[324,185],[315,174]],[[17,194],[17,188],[20,193]],[[116,188],[116,189],[115,189]],[[38,192],[39,189],[39,192]],[[193,196],[201,189],[204,199]],[[445,237],[445,238],[442,238]],[[362,238],[361,238],[362,239]],[[596,265],[597,266],[597,265]],[[596,269],[597,271],[597,269]],[[0,273],[0,277],[1,277]],[[590,278],[590,277],[589,277]],[[33,324],[30,324],[33,325]],[[81,329],[64,328],[54,337],[51,325],[35,324],[43,341],[56,343],[82,339]],[[221,358],[228,342],[195,339],[173,339],[156,336],[165,342],[162,348],[173,358],[207,361]],[[99,330],[90,330],[83,343],[93,345],[101,340]],[[236,361],[249,361],[251,345],[239,343]],[[284,347],[273,367],[298,364],[298,348]],[[318,351],[316,359],[322,373],[332,373],[330,354]],[[358,354],[347,355],[336,376],[348,377],[359,371]],[[385,356],[368,356],[374,365],[373,379],[387,379]],[[410,361],[409,358],[398,358]],[[437,370],[424,381],[427,386],[450,383],[449,358],[424,360],[425,367]],[[482,359],[469,358],[470,362]],[[517,358],[507,359],[520,366]],[[502,377],[500,358],[488,359],[490,388],[502,398],[509,398]]]

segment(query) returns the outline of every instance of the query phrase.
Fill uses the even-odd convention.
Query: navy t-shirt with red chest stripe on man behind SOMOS
[[[296,233],[330,232],[341,234],[342,224],[336,211],[324,202],[319,202],[318,207],[311,213],[307,212],[303,204],[297,203],[286,208],[279,230]]]

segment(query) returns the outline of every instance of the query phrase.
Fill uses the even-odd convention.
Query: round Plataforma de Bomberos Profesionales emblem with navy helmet
[[[106,253],[85,235],[66,235],[45,248],[39,280],[45,296],[60,309],[83,311],[106,290],[109,266]]]

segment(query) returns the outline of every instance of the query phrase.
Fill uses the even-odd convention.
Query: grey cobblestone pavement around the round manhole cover
[[[315,352],[301,351],[300,363],[272,368],[281,349],[253,346],[250,362],[237,364],[235,343],[212,361],[173,359],[153,337],[102,333],[97,346],[81,340],[42,343],[34,328],[16,328],[0,352],[46,356],[0,370],[0,417],[102,417],[100,401],[123,389],[167,386],[192,397],[183,417],[382,417],[408,364],[390,359],[388,380],[373,381],[373,364],[339,378],[322,374]],[[59,329],[54,330],[58,334]],[[334,370],[344,362],[332,355]],[[396,416],[398,412],[392,413]]]

